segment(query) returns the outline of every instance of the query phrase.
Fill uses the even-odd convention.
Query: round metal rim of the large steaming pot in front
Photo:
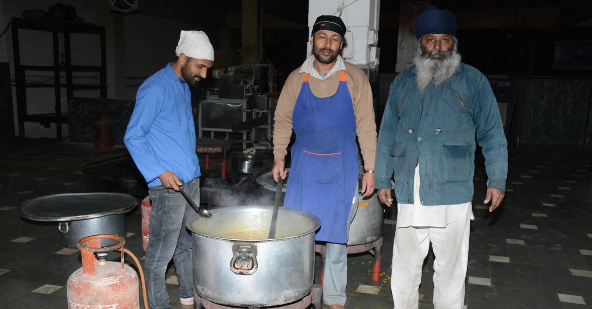
[[[218,208],[218,209],[213,209],[213,210],[208,210],[208,212],[210,212],[212,214],[212,217],[215,217],[217,213],[222,212],[223,210],[228,210],[228,209],[240,209],[240,208],[245,208],[245,207],[258,207],[258,208],[267,208],[267,209],[274,209],[274,206],[262,206],[262,205],[245,205],[245,206],[231,206],[231,207],[223,207],[223,208]],[[221,236],[215,236],[215,235],[209,235],[206,234],[204,232],[198,232],[196,230],[194,230],[191,227],[191,223],[195,222],[196,220],[208,220],[211,218],[204,218],[202,216],[200,216],[199,214],[194,214],[194,216],[191,217],[191,219],[189,220],[191,223],[186,222],[185,226],[187,227],[187,229],[189,229],[191,231],[192,234],[197,234],[197,235],[201,235],[207,238],[214,238],[214,239],[221,239],[221,240],[230,240],[230,241],[234,241],[234,242],[273,242],[276,240],[285,240],[285,239],[291,239],[291,238],[298,238],[301,236],[305,236],[308,235],[310,233],[314,233],[318,230],[318,228],[321,226],[321,220],[318,219],[317,216],[315,216],[314,214],[311,213],[307,213],[307,212],[303,212],[302,210],[297,210],[297,209],[290,209],[290,208],[286,208],[286,207],[279,207],[278,209],[278,213],[279,212],[283,212],[285,209],[285,211],[289,211],[289,212],[294,212],[297,214],[300,214],[301,216],[307,217],[308,219],[312,220],[314,223],[314,228],[308,230],[307,232],[303,232],[297,235],[291,235],[291,236],[286,236],[286,237],[278,237],[278,238],[264,238],[264,239],[242,239],[242,238],[226,238],[226,237],[221,237]],[[194,219],[197,216],[197,219]],[[218,214],[218,216],[223,216],[223,214]]]

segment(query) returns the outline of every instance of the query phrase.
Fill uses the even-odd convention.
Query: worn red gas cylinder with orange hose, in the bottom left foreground
[[[115,240],[115,245],[101,246],[101,240]],[[82,252],[82,268],[73,272],[67,282],[69,309],[83,308],[140,308],[138,275],[123,263],[123,253],[136,262],[140,273],[144,308],[148,309],[146,284],[140,262],[123,245],[126,239],[117,235],[93,235],[79,240],[76,247]],[[121,263],[107,262],[107,253],[121,252]],[[96,255],[96,257],[95,257]]]

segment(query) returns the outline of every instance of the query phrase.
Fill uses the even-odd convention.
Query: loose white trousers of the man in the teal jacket
[[[391,290],[395,309],[419,307],[422,265],[432,243],[434,308],[462,309],[472,212],[446,227],[398,227],[392,248]]]

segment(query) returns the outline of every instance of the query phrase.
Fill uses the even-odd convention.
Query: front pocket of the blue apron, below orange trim
[[[336,184],[345,168],[339,148],[329,150],[304,149],[302,153],[303,180],[307,183]]]

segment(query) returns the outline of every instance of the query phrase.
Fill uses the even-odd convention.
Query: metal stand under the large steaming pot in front
[[[313,305],[314,309],[321,309],[323,308],[323,288],[319,284],[313,284],[313,289],[299,301],[295,303],[285,304],[285,305],[277,305],[272,307],[233,307],[233,306],[226,306],[217,303],[212,303],[211,301],[206,300],[205,298],[200,297],[200,295],[193,291],[193,298],[194,308],[195,309],[305,309],[308,306]]]

